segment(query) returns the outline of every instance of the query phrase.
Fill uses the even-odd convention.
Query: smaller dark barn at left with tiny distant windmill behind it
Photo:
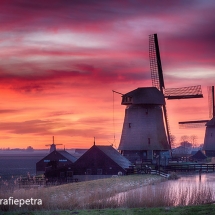
[[[66,165],[72,165],[77,160],[65,150],[54,150],[36,163],[36,174],[43,174],[46,168],[57,169]]]

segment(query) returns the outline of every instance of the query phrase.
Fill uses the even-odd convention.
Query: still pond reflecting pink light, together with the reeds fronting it
[[[177,180],[140,187],[115,196],[132,207],[197,205],[215,200],[215,173],[180,175]]]

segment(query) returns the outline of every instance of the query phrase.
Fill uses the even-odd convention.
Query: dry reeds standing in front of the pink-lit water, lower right
[[[201,205],[212,202],[213,194],[208,185],[187,186],[181,185],[176,189],[172,186],[160,187],[150,185],[141,190],[133,190],[119,194],[116,198],[120,207],[170,207]]]

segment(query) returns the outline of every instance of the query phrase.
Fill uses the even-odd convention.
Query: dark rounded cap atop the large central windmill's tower
[[[140,87],[122,96],[122,105],[153,104],[164,105],[164,95],[156,87]]]

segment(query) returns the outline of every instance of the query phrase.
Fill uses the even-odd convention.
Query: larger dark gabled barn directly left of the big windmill
[[[93,145],[74,164],[74,175],[126,174],[131,162],[112,146]]]

